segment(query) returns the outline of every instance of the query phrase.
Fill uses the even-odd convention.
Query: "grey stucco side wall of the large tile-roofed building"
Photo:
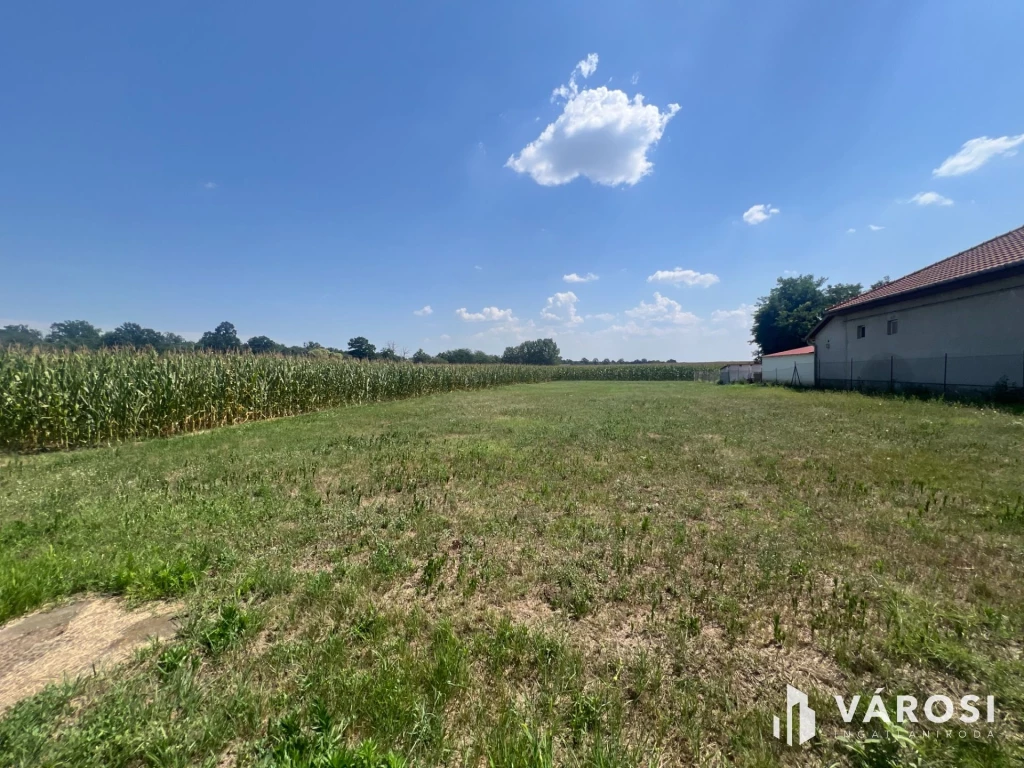
[[[890,319],[898,332],[886,333]],[[857,338],[857,327],[865,336]],[[819,377],[991,386],[1024,384],[1024,275],[833,317],[815,335]],[[948,361],[944,355],[948,354]]]

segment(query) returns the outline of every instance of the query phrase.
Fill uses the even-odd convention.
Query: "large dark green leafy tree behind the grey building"
[[[863,291],[859,283],[827,286],[827,278],[813,274],[779,278],[771,293],[758,299],[752,343],[760,354],[804,346],[807,335],[828,307]]]

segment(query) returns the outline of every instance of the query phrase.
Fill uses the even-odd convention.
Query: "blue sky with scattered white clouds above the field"
[[[743,357],[781,274],[867,285],[1024,224],[1021,29],[940,0],[22,3],[0,324]]]

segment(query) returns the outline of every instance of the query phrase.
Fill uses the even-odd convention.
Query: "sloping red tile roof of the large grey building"
[[[1024,264],[1024,226],[969,248],[955,256],[938,261],[924,269],[887,283],[873,291],[867,291],[847,299],[826,310],[826,314],[849,309],[869,301],[888,299],[921,288],[952,283],[975,274],[1002,269],[1012,264]]]

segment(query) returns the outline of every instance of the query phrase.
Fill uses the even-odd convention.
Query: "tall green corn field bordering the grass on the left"
[[[681,365],[417,366],[250,354],[0,350],[0,449],[173,435],[361,402],[505,384],[693,381]]]

